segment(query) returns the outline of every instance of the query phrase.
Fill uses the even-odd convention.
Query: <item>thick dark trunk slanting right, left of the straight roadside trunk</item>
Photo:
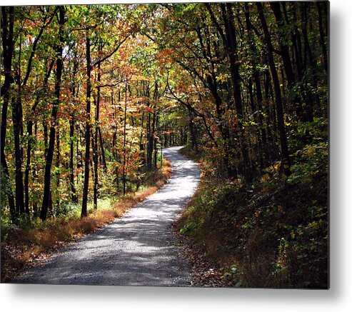
[[[55,78],[55,100],[53,103],[53,109],[51,111],[51,124],[50,124],[50,135],[49,135],[49,148],[46,153],[45,171],[44,171],[44,195],[43,202],[41,204],[41,220],[46,219],[46,214],[49,209],[49,199],[51,195],[50,181],[51,181],[51,164],[54,156],[55,146],[55,134],[56,134],[56,116],[59,109],[60,103],[60,92],[61,92],[61,74],[62,74],[62,52],[64,49],[64,24],[65,24],[65,8],[59,6],[59,44],[56,48],[56,78]]]

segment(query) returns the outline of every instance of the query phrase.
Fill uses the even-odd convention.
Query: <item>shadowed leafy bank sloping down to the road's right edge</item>
[[[216,178],[201,163],[198,190],[177,223],[178,232],[206,253],[227,286],[328,286],[327,176],[284,185],[245,185]]]

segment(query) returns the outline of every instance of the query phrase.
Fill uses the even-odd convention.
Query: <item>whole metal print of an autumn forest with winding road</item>
[[[1,6],[1,282],[328,288],[328,1]]]

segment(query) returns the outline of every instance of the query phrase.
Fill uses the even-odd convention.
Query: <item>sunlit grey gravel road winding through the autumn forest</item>
[[[159,191],[11,283],[190,286],[191,267],[180,256],[171,224],[196,191],[200,171],[179,149],[163,150],[172,176]]]

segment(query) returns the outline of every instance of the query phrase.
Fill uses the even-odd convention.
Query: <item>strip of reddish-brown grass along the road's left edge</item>
[[[163,168],[155,173],[154,185],[111,200],[98,210],[90,210],[89,216],[85,218],[63,216],[48,218],[44,222],[33,220],[21,227],[9,226],[6,232],[1,231],[1,282],[11,281],[25,268],[42,263],[59,248],[123,216],[126,211],[164,186],[170,176],[171,163],[164,159]]]

